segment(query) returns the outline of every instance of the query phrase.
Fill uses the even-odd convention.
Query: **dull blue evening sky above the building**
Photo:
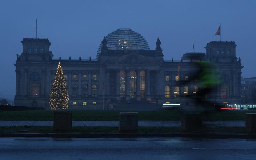
[[[23,38],[48,38],[54,58],[96,57],[101,40],[118,28],[140,33],[151,49],[162,41],[164,59],[205,52],[221,23],[221,40],[235,41],[243,77],[255,77],[256,1],[0,1],[0,97],[15,95],[16,54]]]

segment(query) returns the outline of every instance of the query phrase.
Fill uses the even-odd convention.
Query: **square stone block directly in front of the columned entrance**
[[[138,131],[138,112],[120,112],[118,130]]]

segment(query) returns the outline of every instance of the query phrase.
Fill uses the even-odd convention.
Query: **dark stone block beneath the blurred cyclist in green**
[[[181,113],[181,130],[195,131],[202,127],[201,113]]]

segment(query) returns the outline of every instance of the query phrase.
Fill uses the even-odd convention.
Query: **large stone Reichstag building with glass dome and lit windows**
[[[205,98],[214,103],[241,103],[241,61],[233,41],[212,41],[206,53],[185,53],[181,60],[164,59],[159,38],[156,49],[139,33],[120,28],[100,43],[96,59],[53,59],[51,42],[45,38],[24,38],[17,54],[16,106],[49,109],[49,93],[58,62],[66,79],[70,108],[102,109],[115,104],[180,103],[195,106],[193,96],[200,82],[192,79],[197,61],[211,61],[218,67],[221,82]],[[96,53],[96,52],[95,52]],[[180,73],[178,66],[180,63]],[[178,76],[179,74],[179,76]],[[187,81],[180,84],[179,81]]]

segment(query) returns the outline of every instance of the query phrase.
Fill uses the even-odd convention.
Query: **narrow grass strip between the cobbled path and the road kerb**
[[[0,127],[0,133],[57,133],[52,127]],[[72,133],[119,133],[118,127],[72,127]],[[134,133],[183,133],[180,127],[138,127]],[[245,127],[204,127],[193,133],[247,134]]]

